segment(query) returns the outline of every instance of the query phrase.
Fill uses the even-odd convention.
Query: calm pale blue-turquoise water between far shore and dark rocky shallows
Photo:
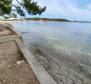
[[[15,30],[29,45],[91,55],[91,23],[16,22]]]

